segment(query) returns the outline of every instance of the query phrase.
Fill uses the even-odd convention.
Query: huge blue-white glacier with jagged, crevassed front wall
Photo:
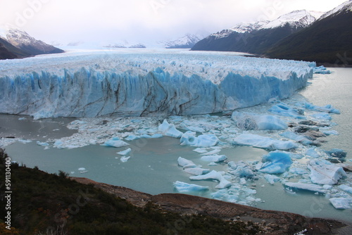
[[[22,62],[22,70],[16,67],[21,61],[1,61],[0,113],[34,118],[217,113],[287,98],[313,75],[311,63],[297,61],[113,54],[102,63],[99,56],[32,58],[36,61]]]

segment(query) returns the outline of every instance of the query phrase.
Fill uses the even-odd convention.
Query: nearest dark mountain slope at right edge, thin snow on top
[[[334,65],[352,65],[352,1],[323,14],[305,30],[282,39],[265,55]]]

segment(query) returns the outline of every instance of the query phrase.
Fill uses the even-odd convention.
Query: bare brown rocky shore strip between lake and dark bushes
[[[144,207],[146,203],[151,202],[163,210],[180,214],[210,215],[234,222],[254,222],[262,231],[265,231],[265,234],[350,234],[352,231],[351,225],[335,220],[308,218],[289,212],[260,210],[246,205],[178,193],[151,195],[121,186],[94,182],[87,178],[71,177],[71,179],[82,184],[94,184],[96,188],[124,198],[139,207]],[[187,226],[187,222],[183,224]]]

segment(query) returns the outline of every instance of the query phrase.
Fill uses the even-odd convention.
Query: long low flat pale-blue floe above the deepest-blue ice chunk
[[[257,134],[241,134],[232,140],[232,144],[248,145],[270,150],[288,150],[298,147],[297,144],[292,141],[280,141],[265,136],[259,136]]]

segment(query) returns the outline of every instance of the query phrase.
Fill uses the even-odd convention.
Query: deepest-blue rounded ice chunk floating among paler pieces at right
[[[262,163],[256,165],[256,169],[263,173],[280,174],[284,173],[292,164],[289,153],[273,151],[263,155]]]

